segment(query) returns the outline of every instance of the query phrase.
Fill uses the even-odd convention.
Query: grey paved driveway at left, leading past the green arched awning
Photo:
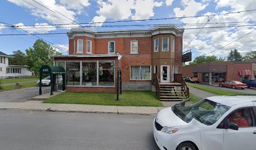
[[[16,89],[12,91],[5,91],[0,93],[0,102],[24,102],[37,96],[39,87]],[[42,93],[50,93],[50,87],[42,87]]]

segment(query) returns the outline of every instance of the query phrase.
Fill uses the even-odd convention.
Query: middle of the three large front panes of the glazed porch
[[[82,86],[97,86],[97,62],[82,62]]]

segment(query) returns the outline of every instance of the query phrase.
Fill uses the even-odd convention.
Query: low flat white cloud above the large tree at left
[[[16,26],[16,28],[23,29],[24,31],[27,31],[31,34],[32,33],[47,33],[47,32],[56,30],[55,26],[45,26],[45,25],[48,25],[47,23],[36,23],[35,25],[36,26],[24,26],[23,23],[14,24],[14,26]],[[44,25],[44,26],[40,26],[40,25]],[[41,28],[41,27],[45,27],[45,28]]]

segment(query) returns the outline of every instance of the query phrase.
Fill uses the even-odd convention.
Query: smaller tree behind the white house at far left
[[[11,55],[13,58],[9,58],[9,64],[13,65],[25,65],[26,64],[26,54],[22,51],[13,51]]]

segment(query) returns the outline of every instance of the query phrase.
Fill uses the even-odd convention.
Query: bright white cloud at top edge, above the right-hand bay
[[[182,0],[181,5],[184,7],[184,10],[181,10],[181,8],[174,8],[173,10],[176,17],[195,16],[197,12],[206,8],[206,4],[196,2],[195,0]]]

